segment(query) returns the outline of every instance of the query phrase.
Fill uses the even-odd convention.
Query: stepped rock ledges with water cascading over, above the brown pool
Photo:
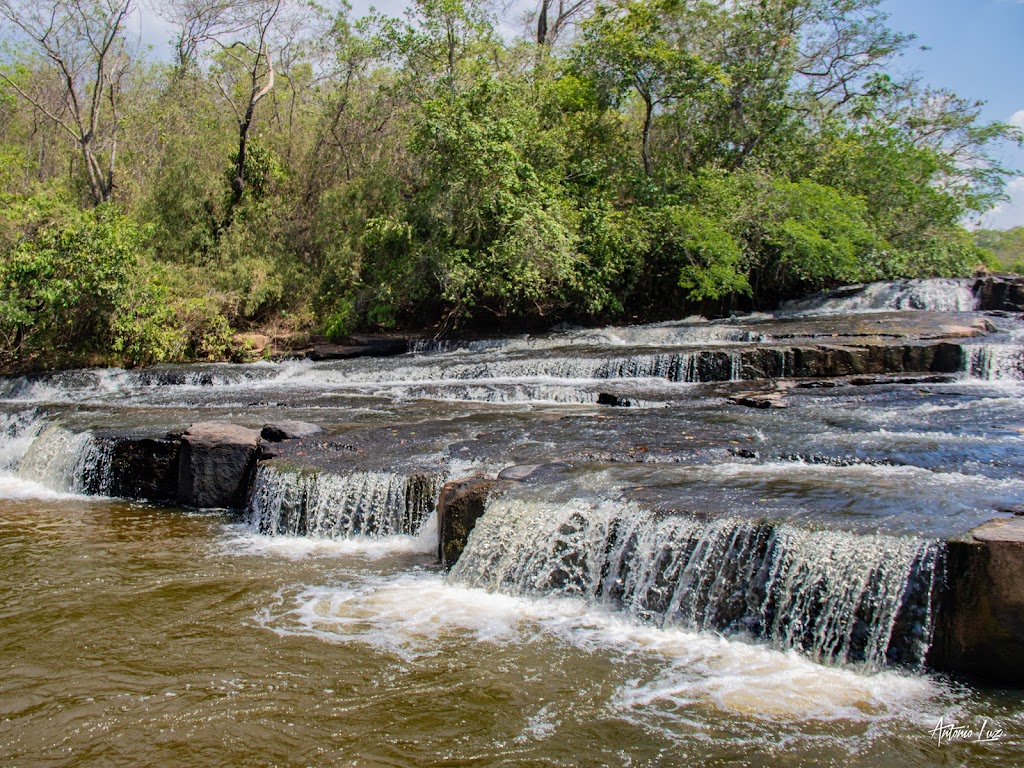
[[[234,510],[267,542],[400,542],[453,588],[1024,685],[1020,292],[9,378],[0,472]]]

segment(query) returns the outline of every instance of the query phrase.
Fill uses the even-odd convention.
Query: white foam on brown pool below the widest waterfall
[[[710,633],[639,625],[582,600],[494,594],[447,584],[439,574],[282,593],[258,621],[281,635],[366,644],[407,663],[470,641],[510,648],[555,642],[642,665],[643,679],[615,691],[609,714],[671,702],[765,720],[871,721],[928,708],[941,692],[923,676],[824,667]]]

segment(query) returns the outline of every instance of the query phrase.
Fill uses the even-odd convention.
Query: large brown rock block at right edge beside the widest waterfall
[[[939,608],[931,667],[1024,686],[1024,519],[990,520],[947,544]]]

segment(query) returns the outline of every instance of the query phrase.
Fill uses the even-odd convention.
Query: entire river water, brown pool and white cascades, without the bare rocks
[[[963,284],[911,288],[790,311],[975,314]],[[1024,502],[1017,321],[948,380],[782,411],[666,374],[773,343],[759,322],[0,382],[0,764],[1024,764],[1024,696],[925,670],[919,616],[942,539]],[[104,430],[283,417],[341,458],[261,470],[241,518],[82,493]],[[549,467],[451,573],[428,509],[339,523],[391,519],[413,473],[516,464]],[[321,523],[268,528],[296,488]],[[763,602],[733,610],[757,569]]]

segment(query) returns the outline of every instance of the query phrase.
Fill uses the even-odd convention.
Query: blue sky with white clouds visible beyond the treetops
[[[372,4],[394,15],[406,6],[404,0],[351,3],[355,16]],[[515,4],[529,7],[530,0]],[[881,8],[894,30],[916,35],[898,71],[984,101],[985,121],[1010,122],[1024,129],[1024,0],[882,0]],[[168,51],[167,29],[152,11],[140,24],[142,38],[155,52]],[[1007,185],[1010,200],[972,223],[996,229],[1024,226],[1024,150],[1008,147],[999,159],[1018,172]]]

